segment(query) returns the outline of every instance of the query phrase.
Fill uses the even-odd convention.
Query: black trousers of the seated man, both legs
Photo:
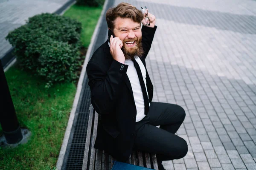
[[[183,158],[188,145],[175,135],[183,120],[185,111],[179,105],[151,102],[148,114],[135,124],[134,149],[156,153],[157,161]],[[160,125],[160,128],[156,127]]]

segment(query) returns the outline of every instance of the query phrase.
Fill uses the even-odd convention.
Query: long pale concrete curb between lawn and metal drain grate
[[[65,136],[64,136],[64,139],[63,139],[63,142],[62,142],[62,145],[61,145],[61,150],[60,150],[60,153],[59,153],[59,156],[58,156],[58,161],[57,161],[57,164],[56,164],[56,167],[57,167],[58,170],[61,170],[61,167],[62,167],[62,164],[63,164],[63,161],[64,161],[64,156],[65,156],[65,153],[66,153],[66,150],[67,150],[67,143],[68,143],[68,140],[69,140],[69,137],[70,137],[70,133],[71,133],[71,129],[72,129],[72,126],[73,126],[73,121],[74,121],[77,105],[78,105],[78,102],[79,102],[79,97],[80,97],[80,94],[81,94],[82,84],[84,82],[84,78],[87,78],[87,76],[86,76],[86,66],[87,66],[87,63],[89,62],[89,57],[90,57],[90,54],[93,50],[93,46],[96,43],[96,38],[97,38],[97,35],[99,33],[99,27],[100,27],[102,17],[104,15],[104,11],[105,11],[105,8],[106,8],[107,4],[108,4],[108,0],[105,0],[101,16],[99,17],[98,23],[97,23],[96,28],[93,32],[93,37],[91,38],[90,45],[89,45],[89,48],[87,50],[87,53],[86,53],[86,56],[85,56],[85,59],[84,59],[83,68],[82,68],[82,71],[81,71],[81,75],[79,77],[79,82],[77,84],[76,96],[75,96],[75,99],[74,99],[74,102],[73,102],[73,107],[72,107],[72,110],[71,110],[71,113],[70,113],[70,117],[69,117],[69,120],[68,120]]]

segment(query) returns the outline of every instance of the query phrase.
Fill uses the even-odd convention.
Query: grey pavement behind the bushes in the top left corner
[[[69,0],[0,0],[0,58],[12,45],[5,40],[9,31],[26,23],[29,17],[53,13]]]

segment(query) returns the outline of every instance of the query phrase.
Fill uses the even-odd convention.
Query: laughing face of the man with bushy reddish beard
[[[123,42],[122,51],[125,59],[143,55],[140,23],[134,22],[131,18],[117,17],[114,21],[113,34]]]

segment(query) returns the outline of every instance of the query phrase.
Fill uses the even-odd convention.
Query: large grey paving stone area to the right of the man
[[[177,134],[189,151],[164,167],[256,170],[256,1],[126,2],[157,17],[146,59],[153,101],[186,111]]]

